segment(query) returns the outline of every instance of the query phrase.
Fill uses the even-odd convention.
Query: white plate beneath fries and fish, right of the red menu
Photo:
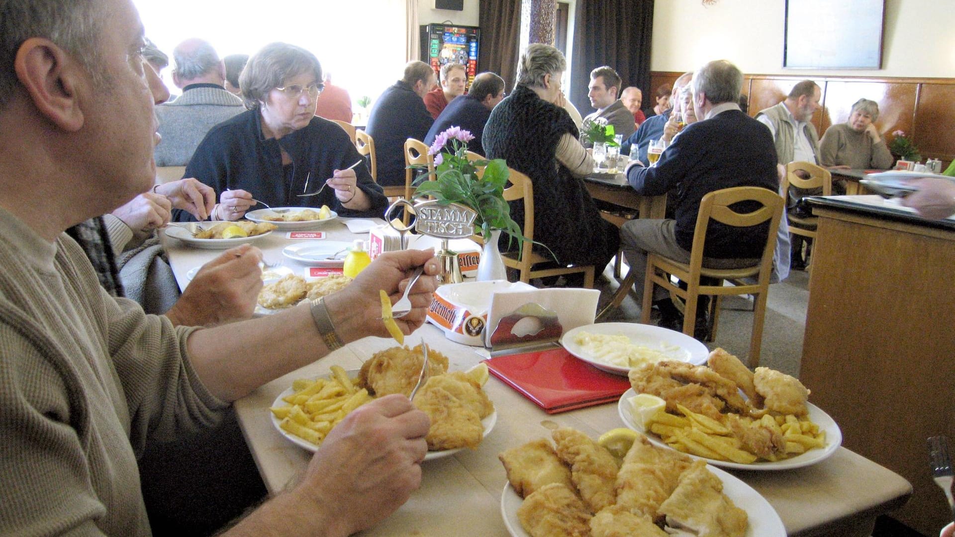
[[[649,431],[641,431],[636,423],[633,421],[633,416],[630,413],[630,405],[626,402],[626,399],[637,395],[633,391],[633,388],[630,388],[624,395],[620,397],[620,400],[617,402],[617,413],[620,414],[620,419],[624,420],[624,424],[637,431],[647,435],[647,440],[650,440],[654,445],[660,447],[666,447],[667,449],[673,449],[668,446],[666,442],[660,440],[660,437],[654,435]],[[697,457],[695,455],[690,455],[693,459],[702,459],[703,461],[709,462],[715,466],[722,466],[724,468],[735,468],[738,470],[789,470],[792,468],[801,468],[803,466],[809,466],[817,462],[823,462],[826,459],[832,457],[833,453],[836,453],[838,446],[842,445],[842,431],[838,428],[838,424],[834,419],[832,419],[828,414],[822,411],[815,404],[807,402],[806,408],[809,409],[809,419],[813,420],[813,423],[816,423],[819,426],[819,429],[826,432],[826,445],[823,448],[810,449],[809,451],[796,455],[790,459],[785,459],[783,461],[776,462],[753,462],[752,464],[741,464],[739,462],[729,462],[729,461],[716,461],[714,459],[707,459],[706,457]],[[680,453],[683,453],[682,451]]]

